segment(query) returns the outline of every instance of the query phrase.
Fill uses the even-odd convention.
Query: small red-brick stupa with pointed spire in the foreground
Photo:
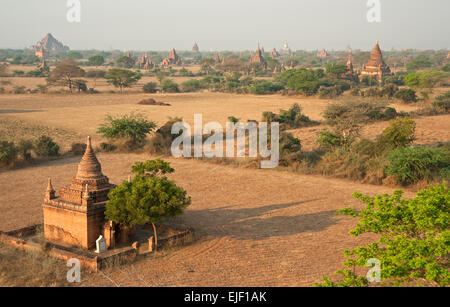
[[[94,247],[102,234],[105,204],[113,187],[103,175],[88,137],[78,172],[59,196],[49,179],[43,204],[45,239],[69,246]]]

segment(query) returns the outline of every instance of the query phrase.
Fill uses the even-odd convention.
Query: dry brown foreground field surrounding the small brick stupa
[[[127,178],[132,163],[147,158],[99,155],[113,183]],[[8,191],[0,194],[0,229],[41,222],[47,178],[58,190],[75,175],[79,159],[0,173],[1,190]],[[310,286],[341,267],[343,248],[369,239],[350,237],[355,221],[334,211],[358,205],[351,197],[355,190],[392,191],[320,176],[170,161],[173,179],[192,196],[192,205],[175,222],[193,227],[198,240],[90,276],[82,285],[113,286],[113,280],[135,286]]]

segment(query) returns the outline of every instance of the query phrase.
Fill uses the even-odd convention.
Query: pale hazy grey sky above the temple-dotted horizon
[[[450,49],[449,0],[80,0],[69,23],[67,0],[1,0],[0,48],[24,48],[48,32],[71,49],[201,50],[280,48]]]

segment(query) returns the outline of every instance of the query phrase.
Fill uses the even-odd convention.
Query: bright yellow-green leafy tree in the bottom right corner
[[[403,198],[397,190],[393,195],[353,196],[365,204],[362,210],[345,208],[338,213],[358,218],[350,234],[377,234],[379,239],[353,250],[346,250],[344,279],[331,282],[324,278],[316,286],[364,286],[367,279],[352,272],[355,266],[365,267],[376,258],[381,264],[381,280],[404,285],[426,280],[448,286],[450,271],[450,193],[446,183],[421,190],[412,199]]]

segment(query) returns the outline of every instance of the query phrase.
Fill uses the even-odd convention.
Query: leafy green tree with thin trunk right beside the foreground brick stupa
[[[165,176],[174,172],[168,162],[161,159],[137,162],[132,166],[132,172],[134,178],[131,181],[124,181],[109,192],[105,217],[123,229],[151,223],[157,247],[155,224],[182,214],[191,198]]]

